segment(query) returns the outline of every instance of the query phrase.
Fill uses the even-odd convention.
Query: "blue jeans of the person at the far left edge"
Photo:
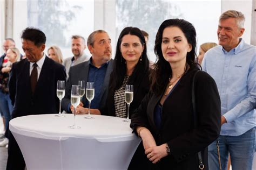
[[[13,107],[11,104],[11,99],[9,97],[9,94],[4,94],[2,91],[0,91],[0,107],[1,107],[2,114],[4,115],[4,118],[5,118],[5,130],[6,130],[9,125]]]

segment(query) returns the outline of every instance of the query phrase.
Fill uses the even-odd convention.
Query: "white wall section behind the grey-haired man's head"
[[[222,0],[221,13],[227,10],[237,10],[245,15],[245,32],[242,38],[246,43],[251,43],[251,26],[252,26],[252,1],[253,0]]]

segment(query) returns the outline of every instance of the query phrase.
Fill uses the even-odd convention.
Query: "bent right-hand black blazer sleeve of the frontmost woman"
[[[168,142],[177,162],[204,150],[220,133],[220,97],[215,81],[205,72],[196,76],[195,95],[198,127]]]

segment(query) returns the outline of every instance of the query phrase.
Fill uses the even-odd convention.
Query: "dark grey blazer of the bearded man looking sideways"
[[[111,59],[107,65],[102,90],[100,91],[100,105],[104,105],[106,102],[110,74],[112,72],[112,69],[113,69],[113,60]],[[68,79],[68,82],[66,83],[65,97],[62,100],[62,109],[65,110],[66,112],[71,113],[68,110],[68,105],[70,104],[72,85],[77,85],[79,80],[84,80],[84,82],[86,83],[88,74],[89,74],[89,60],[79,63],[76,66],[70,67],[69,79]],[[83,104],[85,104],[86,102],[85,95],[83,96],[82,101],[83,101]]]

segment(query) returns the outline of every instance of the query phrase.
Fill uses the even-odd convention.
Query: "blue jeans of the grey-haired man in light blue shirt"
[[[232,170],[252,170],[255,149],[255,128],[240,136],[219,136],[221,168],[227,169],[228,153]],[[209,170],[219,169],[216,141],[208,146]]]

